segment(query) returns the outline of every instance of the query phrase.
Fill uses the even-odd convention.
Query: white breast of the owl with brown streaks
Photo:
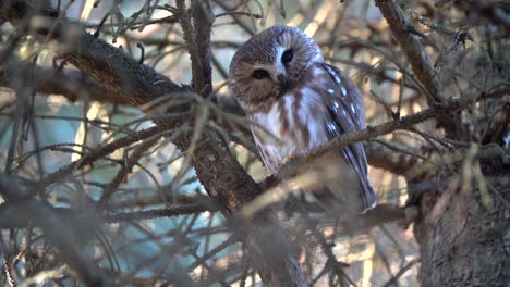
[[[269,110],[250,115],[255,144],[272,174],[289,158],[305,155],[328,141],[323,101],[314,88],[302,87],[283,95]]]

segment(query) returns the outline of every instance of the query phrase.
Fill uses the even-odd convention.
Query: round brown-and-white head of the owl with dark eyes
[[[230,88],[245,110],[255,109],[290,91],[315,62],[323,62],[323,54],[311,37],[294,27],[272,26],[235,52]]]

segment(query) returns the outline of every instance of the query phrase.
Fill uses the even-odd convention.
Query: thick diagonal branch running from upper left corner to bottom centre
[[[94,77],[134,105],[143,105],[165,95],[187,93],[190,88],[178,86],[151,67],[131,59],[123,51],[87,34],[82,27],[64,18],[54,20],[48,13],[29,11],[33,1],[0,1],[0,17],[20,26],[25,15],[37,14],[38,21],[25,18],[35,36],[45,36],[58,42],[57,53],[77,68]],[[37,25],[36,25],[37,24]],[[48,35],[48,32],[53,32]],[[196,79],[194,79],[196,82]],[[189,111],[189,105],[172,107],[168,113]],[[157,121],[158,125],[177,126],[187,118],[179,116]],[[224,142],[210,132],[203,132],[201,149],[194,151],[196,173],[208,195],[228,211],[235,211],[255,195],[259,186],[246,174]],[[179,136],[174,144],[186,150],[191,135]],[[290,250],[286,233],[276,213],[265,211],[244,228],[244,240],[253,255],[260,257],[257,269],[269,286],[307,286],[300,265]],[[244,225],[243,225],[244,226]],[[246,226],[245,226],[246,227]]]

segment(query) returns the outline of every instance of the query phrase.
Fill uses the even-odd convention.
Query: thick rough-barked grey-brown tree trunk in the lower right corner
[[[415,237],[422,286],[508,286],[510,169],[499,163],[484,170],[497,178],[488,183],[489,194],[481,192],[476,180],[459,179],[421,190]]]

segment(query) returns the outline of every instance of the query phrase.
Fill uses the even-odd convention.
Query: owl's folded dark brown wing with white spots
[[[332,88],[326,87],[327,98],[325,99],[329,112],[325,128],[329,139],[364,128],[365,109],[357,87],[339,68],[328,64],[321,64],[321,67],[331,77],[330,85],[332,86]],[[377,199],[368,179],[368,166],[363,144],[349,145],[340,150],[340,154],[360,179],[362,212],[374,208]]]

